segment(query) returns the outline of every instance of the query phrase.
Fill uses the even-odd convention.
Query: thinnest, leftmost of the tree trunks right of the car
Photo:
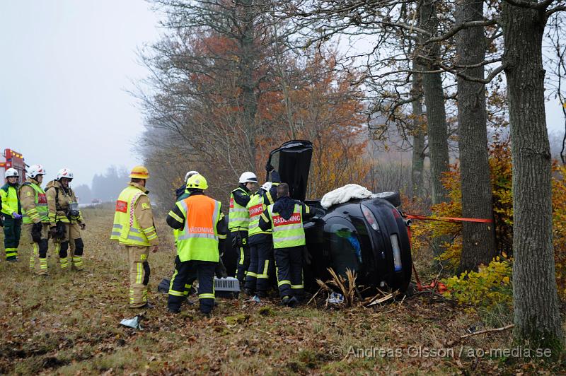
[[[413,68],[417,64],[413,63]],[[412,106],[412,164],[411,164],[411,194],[413,197],[422,197],[422,175],[424,172],[424,136],[427,132],[423,122],[422,112],[422,83],[419,74],[412,75],[411,95],[417,98],[411,102]]]

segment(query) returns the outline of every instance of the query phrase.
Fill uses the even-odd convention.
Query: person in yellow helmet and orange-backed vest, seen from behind
[[[187,189],[190,196],[177,201],[167,216],[167,224],[180,230],[175,272],[169,287],[169,312],[180,312],[180,305],[186,298],[185,286],[194,282],[195,277],[199,280],[200,312],[209,316],[214,308],[214,270],[227,228],[221,203],[204,194],[207,188],[207,180],[202,175],[189,177]]]

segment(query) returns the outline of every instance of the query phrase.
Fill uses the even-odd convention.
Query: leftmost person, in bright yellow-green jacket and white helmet
[[[22,227],[22,208],[18,196],[18,177],[20,174],[15,168],[8,168],[4,172],[6,184],[0,188],[0,216],[4,222],[4,249],[6,260],[18,261],[18,246]]]

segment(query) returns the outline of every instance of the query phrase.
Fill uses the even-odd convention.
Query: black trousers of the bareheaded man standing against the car
[[[298,300],[303,298],[303,248],[304,246],[301,245],[273,250],[277,267],[277,286],[282,298],[284,296],[294,296]]]

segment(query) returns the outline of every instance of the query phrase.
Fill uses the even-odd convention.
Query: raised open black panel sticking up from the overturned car
[[[313,143],[305,140],[287,141],[270,152],[267,161],[279,172],[281,181],[289,184],[292,199],[305,200],[312,156]]]

